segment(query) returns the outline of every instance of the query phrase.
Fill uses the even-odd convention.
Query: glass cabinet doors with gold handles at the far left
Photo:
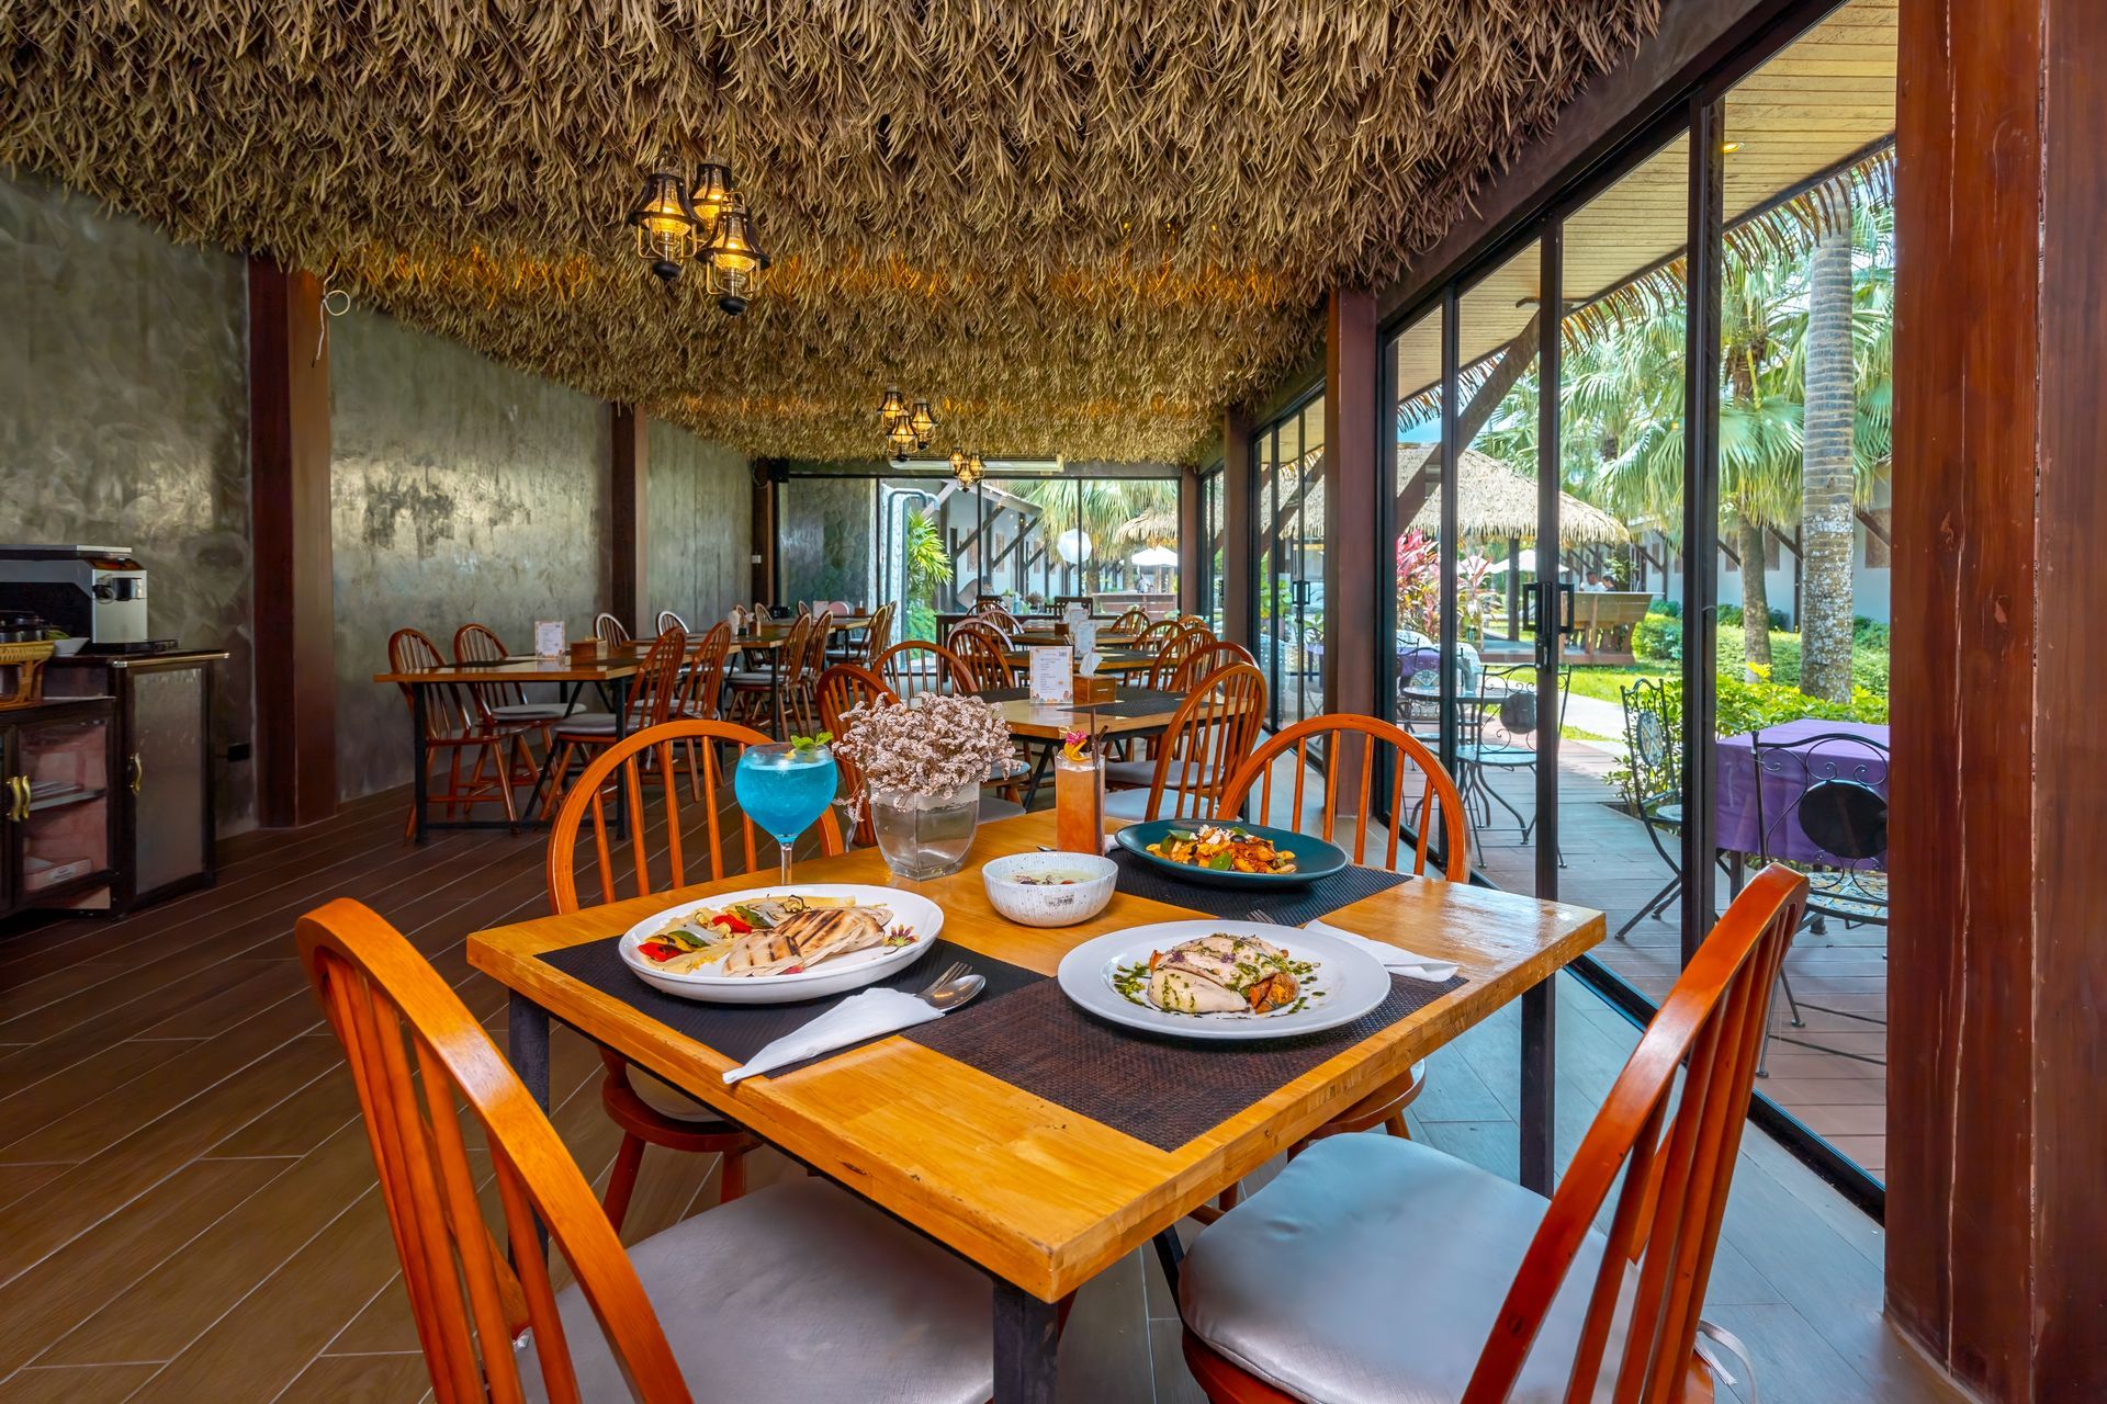
[[[107,697],[0,711],[0,914],[114,888],[116,737]]]

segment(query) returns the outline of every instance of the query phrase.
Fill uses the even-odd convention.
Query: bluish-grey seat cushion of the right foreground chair
[[[1180,1313],[1218,1356],[1311,1404],[1454,1402],[1544,1208],[1433,1147],[1330,1137],[1201,1233],[1180,1273]],[[1591,1231],[1511,1404],[1563,1398],[1601,1252]],[[1616,1383],[1635,1282],[1627,1271],[1597,1400]]]

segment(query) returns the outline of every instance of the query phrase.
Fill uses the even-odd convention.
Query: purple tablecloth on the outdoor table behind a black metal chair
[[[1770,829],[1770,857],[1797,863],[1823,863],[1829,867],[1886,867],[1886,859],[1848,863],[1806,836],[1793,815],[1793,802],[1810,783],[1823,779],[1856,779],[1882,794],[1888,794],[1888,728],[1875,722],[1823,722],[1801,718],[1766,726],[1764,749],[1791,745],[1810,737],[1837,737],[1818,741],[1806,749],[1785,751],[1766,766],[1761,825],[1755,813],[1755,737],[1719,737],[1719,794],[1713,804],[1719,848],[1728,853],[1764,853],[1764,834]],[[1852,737],[1846,741],[1842,737]],[[1875,743],[1879,749],[1863,745]]]

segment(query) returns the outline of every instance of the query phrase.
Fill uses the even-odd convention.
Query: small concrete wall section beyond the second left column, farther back
[[[733,604],[752,604],[752,476],[735,448],[655,419],[649,434],[649,598],[641,623],[649,627],[670,608],[700,634]]]

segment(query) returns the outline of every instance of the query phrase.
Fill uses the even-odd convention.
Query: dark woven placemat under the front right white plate
[[[1391,998],[1348,1025],[1230,1044],[1157,1038],[1104,1023],[1077,1008],[1058,981],[1039,981],[906,1029],[902,1038],[1174,1151],[1464,983],[1460,975],[1439,985],[1393,975]]]

